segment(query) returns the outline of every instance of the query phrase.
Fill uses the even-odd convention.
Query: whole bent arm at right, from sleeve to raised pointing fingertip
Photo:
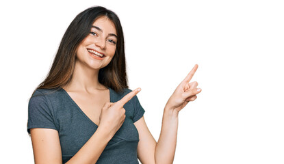
[[[196,89],[197,82],[190,82],[198,66],[194,66],[188,76],[177,86],[175,92],[170,96],[162,121],[162,129],[159,140],[155,139],[149,132],[144,118],[135,122],[138,129],[140,141],[138,143],[138,158],[142,163],[172,163],[175,157],[175,148],[177,145],[177,128],[179,111],[195,100],[196,94],[200,89]]]

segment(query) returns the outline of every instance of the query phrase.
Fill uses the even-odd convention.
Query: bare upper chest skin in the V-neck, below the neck
[[[99,125],[99,116],[101,109],[105,102],[109,100],[109,90],[97,90],[93,93],[71,91],[63,88],[69,94],[69,96],[75,101],[79,108],[85,113],[94,124]]]

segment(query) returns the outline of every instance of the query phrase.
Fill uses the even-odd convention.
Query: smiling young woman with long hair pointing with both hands
[[[156,142],[129,90],[118,16],[103,7],[81,12],[62,38],[47,78],[29,100],[27,131],[36,163],[172,163],[179,111],[201,89],[194,66],[164,108]]]

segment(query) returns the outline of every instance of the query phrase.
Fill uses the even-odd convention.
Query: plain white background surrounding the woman
[[[0,4],[0,163],[34,163],[27,103],[79,12],[103,5],[125,32],[130,89],[155,139],[194,64],[203,91],[179,114],[174,163],[284,163],[284,5],[239,1],[9,1]]]

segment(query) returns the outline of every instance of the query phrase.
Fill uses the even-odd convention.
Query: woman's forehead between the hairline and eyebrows
[[[99,18],[96,18],[92,25],[99,27],[100,29],[102,29],[103,32],[116,34],[116,27],[114,26],[112,20],[109,20],[107,16],[101,16]]]

